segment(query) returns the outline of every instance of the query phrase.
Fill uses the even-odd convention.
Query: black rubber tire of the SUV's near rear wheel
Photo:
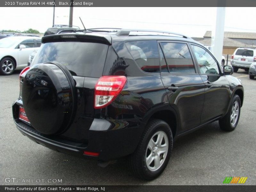
[[[162,141],[160,141],[161,145],[164,141],[164,144],[166,144],[166,146],[168,146],[168,149],[166,150],[167,153],[165,154],[160,154],[158,151],[156,153],[159,153],[159,155],[154,155],[156,153],[152,151],[150,151],[150,156],[152,159],[156,159],[159,158],[160,162],[161,160],[163,160],[163,162],[161,162],[159,164],[159,168],[156,171],[151,171],[148,169],[148,165],[146,164],[146,156],[148,155],[148,145],[149,145],[149,141],[154,138],[152,138],[154,136],[154,134],[156,133],[162,133],[163,132],[166,134],[165,137],[168,137],[168,145],[165,143],[166,141],[164,141],[164,139],[162,139]],[[157,137],[158,138],[158,135]],[[138,145],[138,147],[136,148],[135,152],[130,156],[129,159],[129,166],[132,170],[132,173],[143,180],[153,180],[155,178],[157,178],[165,169],[166,165],[169,162],[171,153],[172,153],[172,130],[170,128],[170,126],[164,122],[163,120],[159,120],[159,119],[152,119],[146,126],[146,129],[142,135],[142,138],[140,140],[140,143]],[[155,142],[154,142],[155,144]],[[156,139],[156,144],[157,144],[157,139]],[[163,144],[163,145],[164,145]],[[156,147],[159,147],[156,145]],[[157,148],[157,149],[161,149],[161,147]],[[157,150],[156,149],[156,150]],[[155,164],[155,160],[154,164]],[[152,161],[152,163],[153,163]],[[151,165],[151,164],[150,164]],[[155,165],[154,165],[155,167]]]

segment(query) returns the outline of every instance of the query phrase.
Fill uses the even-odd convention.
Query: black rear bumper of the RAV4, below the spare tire
[[[17,117],[19,106],[19,101],[12,105],[13,118],[18,130],[23,135],[47,148],[72,156],[93,158],[100,161],[110,161],[127,156],[136,149],[143,130],[139,126],[122,127],[121,125],[120,129],[116,127],[115,130],[107,130],[113,120],[107,123],[105,119],[102,121],[94,119],[88,131],[88,142],[76,142],[63,138],[61,135],[44,135],[32,126],[20,121]],[[99,153],[99,156],[84,155],[84,151]]]

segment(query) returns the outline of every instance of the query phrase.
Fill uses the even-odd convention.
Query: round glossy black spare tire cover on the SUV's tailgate
[[[22,85],[23,106],[31,125],[47,135],[67,130],[75,113],[74,93],[74,79],[60,63],[33,66]]]

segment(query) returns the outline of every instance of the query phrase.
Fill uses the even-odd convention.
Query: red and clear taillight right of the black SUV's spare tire
[[[102,76],[97,81],[94,89],[94,108],[108,106],[124,88],[125,76]]]

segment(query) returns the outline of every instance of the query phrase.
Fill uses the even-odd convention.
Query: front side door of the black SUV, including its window
[[[205,123],[227,111],[230,99],[229,83],[220,65],[203,46],[191,44],[198,71],[205,85],[204,108],[201,123]]]

